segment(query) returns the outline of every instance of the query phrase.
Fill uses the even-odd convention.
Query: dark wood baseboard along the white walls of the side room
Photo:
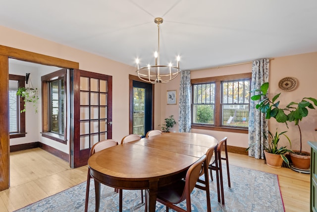
[[[22,143],[22,144],[12,145],[12,146],[10,146],[10,152],[21,151],[21,150],[32,149],[32,148],[42,148],[45,151],[48,151],[51,154],[65,160],[69,163],[69,154],[67,154],[63,151],[60,151],[58,149],[55,149],[52,146],[41,143],[39,141],[32,142],[32,143]]]

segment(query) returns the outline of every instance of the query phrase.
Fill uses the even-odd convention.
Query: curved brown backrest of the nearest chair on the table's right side
[[[200,172],[201,172],[201,168],[204,164],[204,162],[206,162],[206,155],[203,155],[201,158],[199,158],[195,163],[193,163],[187,173],[186,173],[186,177],[185,177],[185,188],[183,191],[183,195],[179,201],[182,202],[186,199],[186,202],[189,204],[190,206],[190,194],[192,193],[192,191],[195,188],[195,185],[198,181],[198,178],[200,176]]]

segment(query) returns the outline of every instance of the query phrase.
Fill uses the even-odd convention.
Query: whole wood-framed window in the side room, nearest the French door
[[[65,69],[44,75],[42,80],[42,136],[66,144]]]

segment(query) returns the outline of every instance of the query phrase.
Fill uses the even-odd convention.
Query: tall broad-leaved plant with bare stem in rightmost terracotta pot
[[[288,122],[294,123],[294,125],[298,127],[300,134],[300,150],[293,150],[293,152],[290,152],[291,160],[293,162],[293,166],[296,168],[309,169],[310,153],[302,151],[302,132],[299,124],[304,117],[308,116],[309,109],[315,109],[314,105],[317,106],[317,99],[304,97],[300,102],[292,101],[286,105],[285,108],[280,108],[280,101],[277,101],[277,99],[281,93],[278,93],[272,99],[269,99],[267,96],[268,86],[269,83],[265,82],[261,85],[260,89],[253,90],[258,91],[259,93],[251,96],[251,99],[260,100],[262,98],[262,100],[256,105],[256,108],[265,114],[266,119],[274,118],[279,123],[285,123],[287,128]],[[295,159],[294,155],[296,156]]]

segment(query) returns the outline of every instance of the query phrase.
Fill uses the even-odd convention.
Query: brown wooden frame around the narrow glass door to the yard
[[[133,81],[139,81],[144,83],[152,84],[152,126],[154,129],[154,84],[150,82],[143,81],[138,76],[129,74],[129,134],[133,134]]]

